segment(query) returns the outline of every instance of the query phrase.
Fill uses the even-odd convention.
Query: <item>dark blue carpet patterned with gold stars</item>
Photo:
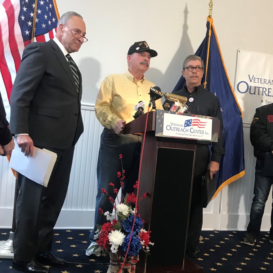
[[[7,240],[9,229],[0,229],[0,240]],[[65,259],[65,268],[50,267],[52,273],[105,273],[109,257],[87,257],[89,230],[54,230],[52,253]],[[201,255],[189,260],[202,266],[203,273],[273,272],[273,244],[268,232],[262,232],[255,246],[242,244],[245,231],[202,231]],[[151,238],[152,239],[152,238]],[[154,246],[155,247],[155,246]],[[151,255],[153,250],[151,248]],[[0,259],[1,273],[18,273],[11,268],[11,259]]]

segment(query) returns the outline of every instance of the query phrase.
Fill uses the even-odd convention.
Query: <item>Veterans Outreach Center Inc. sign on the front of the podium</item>
[[[218,119],[173,111],[156,111],[155,136],[218,141]],[[214,130],[213,130],[214,129]]]

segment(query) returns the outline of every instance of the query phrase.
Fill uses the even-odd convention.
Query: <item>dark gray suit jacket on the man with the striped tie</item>
[[[31,43],[25,47],[11,91],[10,130],[28,133],[35,146],[66,149],[83,133],[80,90],[57,44]]]

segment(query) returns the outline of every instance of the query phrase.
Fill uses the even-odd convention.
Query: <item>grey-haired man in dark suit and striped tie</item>
[[[34,155],[34,146],[57,154],[47,188],[18,173],[19,195],[12,265],[24,272],[48,273],[41,265],[63,267],[51,253],[53,227],[68,189],[74,146],[83,133],[82,78],[69,53],[87,41],[82,16],[61,16],[56,37],[31,43],[11,92],[10,129],[21,151]]]

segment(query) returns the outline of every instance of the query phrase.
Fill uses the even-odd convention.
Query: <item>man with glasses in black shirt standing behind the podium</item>
[[[222,115],[220,102],[213,93],[204,89],[201,80],[204,74],[204,62],[199,56],[190,55],[183,63],[182,75],[186,80],[186,86],[174,94],[188,98],[186,104],[192,114],[217,117],[220,119],[220,134],[218,142],[198,141],[194,168],[192,199],[190,207],[190,222],[187,240],[187,254],[198,257],[198,247],[203,223],[203,207],[201,203],[201,180],[209,169],[210,178],[219,170],[219,162],[224,154],[222,145]],[[211,146],[211,157],[208,145]]]

